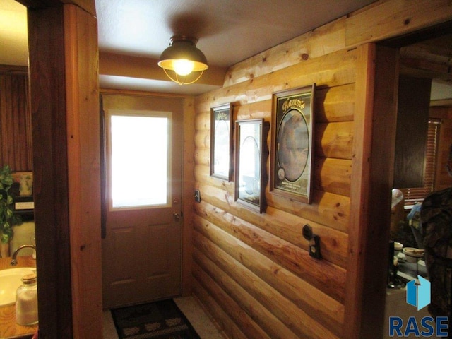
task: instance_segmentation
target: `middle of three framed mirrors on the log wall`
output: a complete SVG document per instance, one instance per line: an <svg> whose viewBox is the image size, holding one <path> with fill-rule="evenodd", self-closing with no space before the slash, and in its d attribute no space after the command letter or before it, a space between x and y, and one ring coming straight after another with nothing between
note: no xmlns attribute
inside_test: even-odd
<svg viewBox="0 0 452 339"><path fill-rule="evenodd" d="M264 126L263 119L235 121L235 201L259 213L265 208Z"/></svg>

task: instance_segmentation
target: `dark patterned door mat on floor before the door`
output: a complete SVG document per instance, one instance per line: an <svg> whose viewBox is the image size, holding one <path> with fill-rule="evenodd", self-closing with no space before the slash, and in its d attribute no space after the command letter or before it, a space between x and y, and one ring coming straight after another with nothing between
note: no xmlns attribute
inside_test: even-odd
<svg viewBox="0 0 452 339"><path fill-rule="evenodd" d="M111 311L119 339L201 339L172 299Z"/></svg>

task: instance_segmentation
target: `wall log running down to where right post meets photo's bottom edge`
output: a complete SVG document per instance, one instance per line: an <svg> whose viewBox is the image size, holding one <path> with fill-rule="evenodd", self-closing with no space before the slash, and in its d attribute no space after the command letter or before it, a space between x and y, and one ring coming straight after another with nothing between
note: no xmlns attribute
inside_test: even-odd
<svg viewBox="0 0 452 339"><path fill-rule="evenodd" d="M201 237L198 239L201 240ZM202 244L198 244L202 249ZM300 338L337 338L285 296L268 287L256 274L228 256L225 251L215 245L210 246L210 250L212 252L206 255L205 252L195 248L194 260L198 263L207 263L208 266L216 266L225 272Z"/></svg>

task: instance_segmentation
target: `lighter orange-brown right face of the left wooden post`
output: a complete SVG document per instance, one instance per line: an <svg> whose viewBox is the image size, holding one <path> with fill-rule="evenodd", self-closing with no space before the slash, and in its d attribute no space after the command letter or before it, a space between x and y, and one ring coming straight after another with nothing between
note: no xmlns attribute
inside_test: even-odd
<svg viewBox="0 0 452 339"><path fill-rule="evenodd" d="M90 1L85 1L88 3ZM64 5L73 337L102 336L97 20ZM81 85L83 84L83 85ZM89 278L88 278L89 277Z"/></svg>

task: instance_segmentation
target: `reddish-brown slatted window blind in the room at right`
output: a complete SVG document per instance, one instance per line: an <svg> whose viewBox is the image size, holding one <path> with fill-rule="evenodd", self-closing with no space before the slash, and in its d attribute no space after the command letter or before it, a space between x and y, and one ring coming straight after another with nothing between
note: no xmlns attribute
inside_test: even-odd
<svg viewBox="0 0 452 339"><path fill-rule="evenodd" d="M422 187L400 189L405 197L405 206L412 206L422 202L427 194L434 191L434 179L436 175L436 157L438 153L439 128L441 119L429 119L427 131L427 147L425 150L424 182Z"/></svg>

